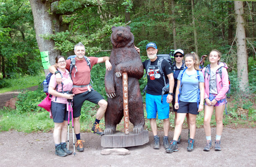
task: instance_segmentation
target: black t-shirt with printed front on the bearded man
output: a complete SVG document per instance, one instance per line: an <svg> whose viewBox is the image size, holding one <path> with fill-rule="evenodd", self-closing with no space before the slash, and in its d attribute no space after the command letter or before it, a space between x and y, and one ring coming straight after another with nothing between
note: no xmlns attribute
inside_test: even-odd
<svg viewBox="0 0 256 167"><path fill-rule="evenodd" d="M163 80L163 74L160 73L158 69L158 60L157 58L155 61L145 60L142 64L145 68L147 66L148 61L150 61L150 66L148 66L147 73L147 94L152 95L161 95L162 94L162 88L165 86L164 80ZM162 69L163 73L165 74L165 81L166 83L169 82L167 75L172 73L171 65L168 63L167 60L162 61Z"/></svg>

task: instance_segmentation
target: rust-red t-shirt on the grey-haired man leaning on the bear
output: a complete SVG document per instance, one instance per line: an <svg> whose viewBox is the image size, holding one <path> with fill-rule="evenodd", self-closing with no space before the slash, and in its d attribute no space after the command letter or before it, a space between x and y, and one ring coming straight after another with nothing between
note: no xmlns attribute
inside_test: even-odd
<svg viewBox="0 0 256 167"><path fill-rule="evenodd" d="M97 57L88 57L91 61L91 68L93 68L93 65L97 63L98 58ZM66 69L69 71L70 70L70 63L71 63L71 59L66 60L67 62L67 66ZM75 70L75 66L77 67L77 72ZM75 58L75 66L72 69L71 72L71 77L73 80L73 85L88 85L91 81L91 75L90 75L90 68L87 65L85 59L83 58L82 61L78 60L77 58ZM75 77L74 77L75 74ZM90 86L91 88L91 86ZM83 93L85 91L88 91L87 87L84 88L73 88L72 92L74 94L80 94Z"/></svg>

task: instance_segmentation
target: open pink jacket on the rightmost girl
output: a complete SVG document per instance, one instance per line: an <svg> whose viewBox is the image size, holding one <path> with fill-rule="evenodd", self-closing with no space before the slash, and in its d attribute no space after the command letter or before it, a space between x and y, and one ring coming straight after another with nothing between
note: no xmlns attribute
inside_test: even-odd
<svg viewBox="0 0 256 167"><path fill-rule="evenodd" d="M217 81L217 96L215 97L216 101L220 101L222 99L226 98L226 92L228 91L228 66L226 63L220 62L218 65L218 69L216 72L219 71L220 67L222 67L222 79L220 78L220 73L217 73L216 75L216 81ZM210 75L209 73L205 73L206 67L202 69L202 73L204 76L204 99L209 98L209 81L210 81Z"/></svg>

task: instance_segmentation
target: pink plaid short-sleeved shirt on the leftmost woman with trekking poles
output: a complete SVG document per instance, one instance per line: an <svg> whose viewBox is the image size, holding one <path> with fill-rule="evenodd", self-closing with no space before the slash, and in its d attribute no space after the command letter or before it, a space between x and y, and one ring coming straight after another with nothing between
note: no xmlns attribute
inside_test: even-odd
<svg viewBox="0 0 256 167"><path fill-rule="evenodd" d="M59 68L58 68L59 70ZM73 86L73 82L70 78L69 72L66 70L65 72L62 72L59 70L59 72L62 75L62 83L63 83L63 91L71 91L72 90L72 86ZM55 88L57 86L57 82L56 82L56 76L55 74L52 74L50 82L49 82L49 86ZM58 92L62 92L62 85L59 84L58 88L57 88ZM63 98L63 97L56 97L56 96L52 96L52 101L57 102L57 103L62 103L62 104L66 104L67 103L67 99Z"/></svg>

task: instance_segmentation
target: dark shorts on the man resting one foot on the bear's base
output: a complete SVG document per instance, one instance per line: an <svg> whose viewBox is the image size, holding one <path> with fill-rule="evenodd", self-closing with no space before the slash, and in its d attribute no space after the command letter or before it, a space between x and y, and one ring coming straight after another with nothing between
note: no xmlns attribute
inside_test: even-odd
<svg viewBox="0 0 256 167"><path fill-rule="evenodd" d="M100 100L104 99L97 91L86 91L80 94L75 94L73 99L73 118L77 118L81 115L81 108L85 100L91 101L94 104L98 104Z"/></svg>

